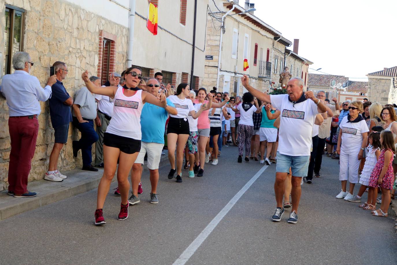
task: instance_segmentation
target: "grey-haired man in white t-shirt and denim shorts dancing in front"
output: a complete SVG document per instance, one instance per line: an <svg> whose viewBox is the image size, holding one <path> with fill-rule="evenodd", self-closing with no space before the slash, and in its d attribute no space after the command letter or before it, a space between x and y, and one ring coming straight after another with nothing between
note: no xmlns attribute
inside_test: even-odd
<svg viewBox="0 0 397 265"><path fill-rule="evenodd" d="M277 208L272 216L272 221L281 221L281 216L284 213L284 182L289 168L291 168L292 210L288 222L296 224L298 222L298 205L301 199L301 178L307 176L314 120L316 114L326 112L327 107L314 97L312 91L303 92L304 83L298 77L289 80L286 95L268 95L254 89L249 85L247 75L241 77L241 82L254 97L271 103L281 111L276 181L274 183ZM294 130L291 131L291 128Z"/></svg>

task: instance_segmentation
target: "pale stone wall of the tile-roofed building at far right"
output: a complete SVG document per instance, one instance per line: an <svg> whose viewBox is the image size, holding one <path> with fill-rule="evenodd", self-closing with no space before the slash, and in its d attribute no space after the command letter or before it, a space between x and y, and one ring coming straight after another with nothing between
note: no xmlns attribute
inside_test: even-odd
<svg viewBox="0 0 397 265"><path fill-rule="evenodd" d="M368 100L372 103L388 104L390 87L391 78L368 77Z"/></svg>

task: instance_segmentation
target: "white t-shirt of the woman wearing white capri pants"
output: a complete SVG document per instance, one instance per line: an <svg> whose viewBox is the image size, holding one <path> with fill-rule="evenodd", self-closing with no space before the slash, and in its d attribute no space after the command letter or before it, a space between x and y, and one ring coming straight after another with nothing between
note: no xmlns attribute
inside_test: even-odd
<svg viewBox="0 0 397 265"><path fill-rule="evenodd" d="M343 153L355 152L360 149L362 133L370 131L361 115L358 115L357 119L352 122L348 120L348 117L350 117L349 114L343 117L341 124L339 124L339 128L342 130L341 152Z"/></svg>

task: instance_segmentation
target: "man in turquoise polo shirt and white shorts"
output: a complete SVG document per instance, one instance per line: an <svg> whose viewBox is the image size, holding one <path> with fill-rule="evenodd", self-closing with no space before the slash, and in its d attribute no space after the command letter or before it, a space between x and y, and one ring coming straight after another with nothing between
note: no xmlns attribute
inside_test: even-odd
<svg viewBox="0 0 397 265"><path fill-rule="evenodd" d="M146 82L147 92L156 96L158 93L164 93L160 90L160 84L156 78L150 78ZM157 183L158 183L158 166L160 164L161 152L164 147L164 131L168 114L176 115L178 111L174 108L174 104L167 99L166 108L145 103L141 113L141 151L135 160L131 169L132 195L129 198L131 204L139 203L138 186L142 176L142 166L145 155L147 154L147 167L150 170L150 184L152 191L150 192L150 203L158 203Z"/></svg>

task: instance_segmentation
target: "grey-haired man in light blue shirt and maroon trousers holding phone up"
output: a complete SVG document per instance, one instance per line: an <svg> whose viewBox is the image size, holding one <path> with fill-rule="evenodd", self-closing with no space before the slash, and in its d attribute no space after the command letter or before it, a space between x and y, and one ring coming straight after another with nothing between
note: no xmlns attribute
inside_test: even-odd
<svg viewBox="0 0 397 265"><path fill-rule="evenodd" d="M8 168L8 195L17 198L35 197L27 190L27 177L36 149L39 133L39 101L51 97L51 85L56 76L50 76L44 89L39 79L30 75L33 62L27 52L16 52L12 58L13 74L5 75L0 92L6 97L10 119L8 127L11 139L11 154Z"/></svg>

